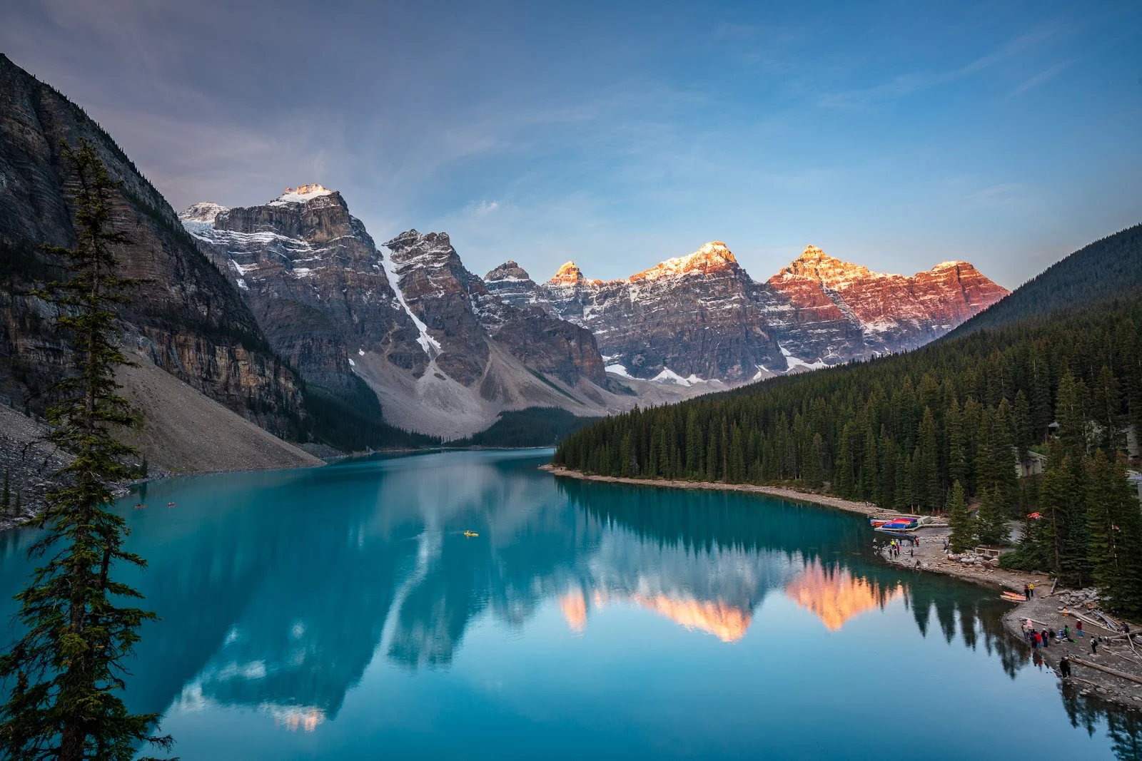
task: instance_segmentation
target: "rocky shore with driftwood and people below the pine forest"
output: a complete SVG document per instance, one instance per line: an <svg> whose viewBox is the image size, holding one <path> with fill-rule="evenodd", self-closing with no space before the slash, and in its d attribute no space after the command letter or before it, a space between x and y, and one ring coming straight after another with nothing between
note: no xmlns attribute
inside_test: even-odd
<svg viewBox="0 0 1142 761"><path fill-rule="evenodd" d="M856 512L870 518L899 515L896 511L884 510L869 503L773 486L588 476L552 464L540 465L540 469L562 478L610 484L766 494ZM885 562L903 568L955 576L1020 594L1023 592L1024 584L1034 584L1036 596L1031 600L1013 604L1012 609L1004 615L1004 626L1007 632L1015 639L1024 641L1024 622L1034 624L1037 631L1046 629L1057 632L1064 626L1069 626L1070 641L1055 639L1048 647L1032 650L1030 657L1037 663L1049 666L1059 674L1061 673L1059 662L1065 655L1071 662L1071 675L1063 678L1063 685L1067 688L1073 689L1083 697L1093 697L1120 707L1142 711L1142 628L1133 622L1116 621L1116 623L1127 623L1131 631L1137 632L1137 634L1126 637L1113 631L1107 622L1100 618L1097 594L1093 590L1056 589L1052 593L1052 582L1046 574L999 568L998 564L992 562L986 556L975 553L962 556L947 553L944 552L944 540L949 533L947 524L938 520L917 529L914 536L919 540L919 543L915 547L906 547L901 557L892 557L887 547L880 548L880 556ZM1080 620L1079 616L1085 630L1083 637L1076 635L1076 623ZM1092 653L1091 640L1095 638L1099 639L1097 651Z"/></svg>

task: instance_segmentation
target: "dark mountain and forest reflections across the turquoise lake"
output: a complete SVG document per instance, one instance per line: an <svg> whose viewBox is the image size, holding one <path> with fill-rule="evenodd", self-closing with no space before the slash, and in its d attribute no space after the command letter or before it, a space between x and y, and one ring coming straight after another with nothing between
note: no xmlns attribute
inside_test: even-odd
<svg viewBox="0 0 1142 761"><path fill-rule="evenodd" d="M920 635L958 635L1012 678L1029 665L1003 633L1007 608L994 594L882 564L852 516L733 493L556 480L539 462L434 454L145 485L128 501L178 508L126 513L130 549L150 560L132 581L162 618L143 632L130 707L168 718L242 709L263 726L320 736L367 673L447 673L474 631L538 637L530 632L544 610L581 642L600 616L635 625L618 613L629 610L733 649L755 631L849 637L870 612L899 609ZM13 612L31 540L0 540L0 614ZM637 625L638 637L656 631ZM604 629L621 638L613 623ZM1089 703L1068 701L1076 726L1101 720ZM1118 745L1139 736L1115 721Z"/></svg>

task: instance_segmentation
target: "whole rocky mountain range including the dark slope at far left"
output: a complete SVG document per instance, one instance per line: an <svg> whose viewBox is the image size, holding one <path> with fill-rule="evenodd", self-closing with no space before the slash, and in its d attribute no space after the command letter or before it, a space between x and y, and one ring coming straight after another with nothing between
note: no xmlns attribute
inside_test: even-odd
<svg viewBox="0 0 1142 761"><path fill-rule="evenodd" d="M813 246L754 281L719 242L617 281L572 262L542 283L514 261L480 277L445 233L378 245L321 185L176 214L111 136L3 56L0 105L0 394L42 412L38 390L67 371L50 311L21 292L51 274L40 243L75 243L61 141L85 138L122 183L122 274L143 281L120 314L124 343L166 373L124 382L152 421L142 440L166 452L152 463L168 468L188 456L178 431L191 416L201 428L203 411L210 430L248 436L252 422L311 450L416 446L432 440L420 435L471 436L506 411L601 416L909 349L1006 294L966 262L903 277ZM199 448L196 468L254 467L218 454L222 444ZM313 461L266 456L259 465Z"/></svg>

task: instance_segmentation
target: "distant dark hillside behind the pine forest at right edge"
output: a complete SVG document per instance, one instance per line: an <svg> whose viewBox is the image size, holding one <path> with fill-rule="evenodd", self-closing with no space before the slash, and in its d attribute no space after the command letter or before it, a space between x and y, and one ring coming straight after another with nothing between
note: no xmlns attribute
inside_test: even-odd
<svg viewBox="0 0 1142 761"><path fill-rule="evenodd" d="M1126 298L1142 284L1142 225L1108 235L1070 254L975 315L944 340L1011 325L1076 305Z"/></svg>

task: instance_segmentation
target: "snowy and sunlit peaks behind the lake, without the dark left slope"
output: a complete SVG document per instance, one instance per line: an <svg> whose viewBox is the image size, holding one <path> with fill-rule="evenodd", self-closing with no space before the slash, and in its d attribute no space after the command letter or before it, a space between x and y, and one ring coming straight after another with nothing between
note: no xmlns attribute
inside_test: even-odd
<svg viewBox="0 0 1142 761"><path fill-rule="evenodd" d="M619 281L568 262L537 284L514 261L481 278L445 233L378 249L316 184L179 218L306 381L362 379L387 422L445 439L505 410L610 414L914 348L1007 293L966 262L903 277L814 246L758 283L721 242Z"/></svg>

